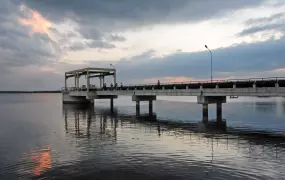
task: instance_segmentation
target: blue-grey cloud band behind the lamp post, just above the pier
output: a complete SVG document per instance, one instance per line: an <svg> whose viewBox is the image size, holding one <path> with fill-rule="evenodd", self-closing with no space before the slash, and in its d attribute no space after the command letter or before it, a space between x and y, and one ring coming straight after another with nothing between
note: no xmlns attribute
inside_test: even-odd
<svg viewBox="0 0 285 180"><path fill-rule="evenodd" d="M251 72L285 68L284 47L285 38L282 38L214 50L213 72L243 72L246 75ZM117 63L119 77L141 79L142 77L186 76L203 79L210 76L208 51L176 53L164 58L151 58L152 55L153 51L148 51L132 60Z"/></svg>

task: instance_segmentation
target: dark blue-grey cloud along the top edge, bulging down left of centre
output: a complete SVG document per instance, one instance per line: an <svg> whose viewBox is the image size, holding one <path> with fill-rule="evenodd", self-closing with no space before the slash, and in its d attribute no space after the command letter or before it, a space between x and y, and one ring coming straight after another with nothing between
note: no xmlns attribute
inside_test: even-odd
<svg viewBox="0 0 285 180"><path fill-rule="evenodd" d="M83 37L92 40L99 40L108 33L149 27L154 24L177 24L211 19L263 2L260 0L14 1L24 3L55 23L72 19L78 24L78 30Z"/></svg>

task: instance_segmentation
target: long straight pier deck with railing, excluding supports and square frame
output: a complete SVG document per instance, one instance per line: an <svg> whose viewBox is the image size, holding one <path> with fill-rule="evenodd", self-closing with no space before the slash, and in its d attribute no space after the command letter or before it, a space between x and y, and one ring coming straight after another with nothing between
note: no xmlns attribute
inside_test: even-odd
<svg viewBox="0 0 285 180"><path fill-rule="evenodd" d="M72 96L280 96L285 97L285 78L258 78L102 88L69 88ZM87 93L88 92L88 93Z"/></svg>

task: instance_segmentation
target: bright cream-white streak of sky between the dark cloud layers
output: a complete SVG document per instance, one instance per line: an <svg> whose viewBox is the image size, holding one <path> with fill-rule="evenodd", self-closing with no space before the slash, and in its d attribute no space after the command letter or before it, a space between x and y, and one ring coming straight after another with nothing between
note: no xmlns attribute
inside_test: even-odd
<svg viewBox="0 0 285 180"><path fill-rule="evenodd" d="M156 56L163 57L177 51L195 52L205 50L207 44L211 49L223 48L240 43L254 43L284 34L276 31L258 32L250 36L238 37L237 34L246 28L248 19L269 17L284 12L284 6L275 6L275 1L267 1L255 8L247 8L226 14L220 19L211 19L189 24L157 24L137 30L121 32L127 39L115 43L116 48L106 50L85 49L67 52L64 59L70 61L84 60L120 60L154 50ZM276 3L276 2L275 2Z"/></svg>

